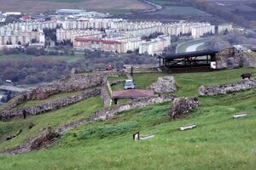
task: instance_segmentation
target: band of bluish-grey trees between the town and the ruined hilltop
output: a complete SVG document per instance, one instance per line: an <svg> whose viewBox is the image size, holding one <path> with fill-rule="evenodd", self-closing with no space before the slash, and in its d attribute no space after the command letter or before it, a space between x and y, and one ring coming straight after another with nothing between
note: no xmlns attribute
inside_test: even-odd
<svg viewBox="0 0 256 170"><path fill-rule="evenodd" d="M0 62L0 84L5 80L11 80L16 84L51 82L70 74L72 68L96 71L113 65L113 68L122 69L123 65L157 64L157 61L152 56L102 51L85 51L83 59L71 63L46 56L34 56L32 59L5 59Z"/></svg>

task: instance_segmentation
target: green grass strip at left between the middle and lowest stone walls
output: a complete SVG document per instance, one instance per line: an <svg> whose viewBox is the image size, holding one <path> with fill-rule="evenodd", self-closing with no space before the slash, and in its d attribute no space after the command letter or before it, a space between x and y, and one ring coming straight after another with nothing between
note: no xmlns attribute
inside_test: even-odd
<svg viewBox="0 0 256 170"><path fill-rule="evenodd" d="M79 103L57 111L51 111L38 116L27 116L25 120L22 119L22 117L16 117L9 122L0 122L0 150L22 144L28 137L37 136L38 133L42 133L44 128L48 126L59 127L68 122L74 122L84 117L89 117L102 107L102 99L97 96L84 99ZM29 130L28 124L30 122L34 123L36 126ZM4 141L8 134L14 134L19 129L22 129L22 133L18 137L10 141Z"/></svg>

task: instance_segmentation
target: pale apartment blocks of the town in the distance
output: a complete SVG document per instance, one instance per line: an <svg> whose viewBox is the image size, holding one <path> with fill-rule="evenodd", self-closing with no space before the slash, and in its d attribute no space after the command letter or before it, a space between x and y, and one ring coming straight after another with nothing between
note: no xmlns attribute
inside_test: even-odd
<svg viewBox="0 0 256 170"><path fill-rule="evenodd" d="M24 21L0 27L0 45L44 44L43 31L47 28L56 30L57 42L68 40L73 42L73 48L154 55L171 45L172 36L196 38L215 33L215 26L207 22L107 19L83 9L59 9L49 17L55 20L30 20L26 15L21 17ZM218 26L218 33L231 29L232 25Z"/></svg>

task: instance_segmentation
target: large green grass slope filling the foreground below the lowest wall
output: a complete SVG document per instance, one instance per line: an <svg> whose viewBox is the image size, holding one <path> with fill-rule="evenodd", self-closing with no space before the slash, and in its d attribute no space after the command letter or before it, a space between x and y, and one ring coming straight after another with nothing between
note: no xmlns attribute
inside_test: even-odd
<svg viewBox="0 0 256 170"><path fill-rule="evenodd" d="M254 94L253 94L254 93ZM1 156L4 169L253 169L256 165L255 121L251 98L230 105L230 95L201 98L203 105L191 116L169 122L168 103L125 111L110 122L90 123L65 133L48 150L20 156ZM205 102L208 99L215 100ZM221 99L221 100L220 100ZM217 106L218 105L218 106ZM241 107L247 105L246 107ZM232 114L250 111L233 119ZM182 124L195 122L193 130L181 132ZM132 133L154 133L154 139L132 141ZM172 160L172 161L171 161Z"/></svg>

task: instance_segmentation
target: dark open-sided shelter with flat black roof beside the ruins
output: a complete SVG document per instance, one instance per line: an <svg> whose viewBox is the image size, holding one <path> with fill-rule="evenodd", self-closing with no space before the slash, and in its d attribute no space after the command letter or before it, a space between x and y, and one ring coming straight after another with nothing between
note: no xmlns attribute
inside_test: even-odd
<svg viewBox="0 0 256 170"><path fill-rule="evenodd" d="M210 71L218 51L203 50L158 56L160 67L170 72ZM215 63L216 64L216 63Z"/></svg>

